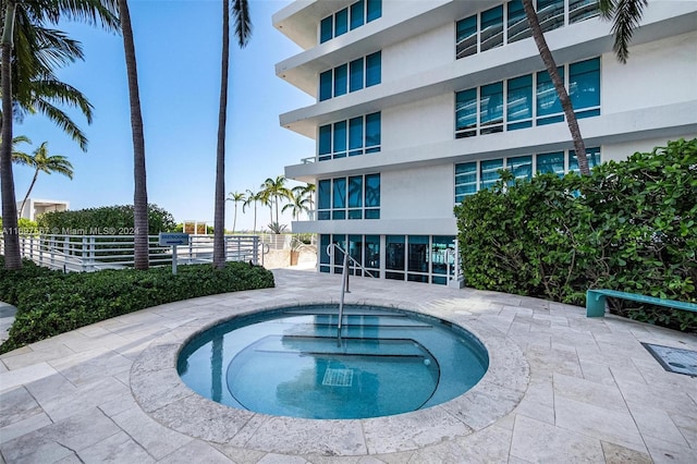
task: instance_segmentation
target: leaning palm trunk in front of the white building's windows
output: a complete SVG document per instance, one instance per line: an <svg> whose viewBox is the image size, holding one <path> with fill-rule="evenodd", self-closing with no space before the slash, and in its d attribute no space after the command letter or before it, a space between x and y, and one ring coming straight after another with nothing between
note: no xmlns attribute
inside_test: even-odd
<svg viewBox="0 0 697 464"><path fill-rule="evenodd" d="M527 22L530 25L530 30L533 32L533 38L535 39L537 49L539 50L542 62L545 63L547 72L552 80L552 84L554 84L554 89L557 90L559 100L562 103L562 109L564 110L564 115L566 117L566 124L568 125L568 132L571 132L571 137L574 141L574 149L576 151L576 159L578 160L578 169L580 170L582 175L589 175L590 169L588 168L586 147L584 145L584 139L580 136L580 129L578 129L576 113L574 113L574 107L571 102L571 98L568 98L568 94L566 93L566 87L564 87L564 82L557 71L557 63L554 62L552 52L547 46L545 34L542 33L540 22L537 17L537 12L533 7L533 0L523 0L523 7L525 8L525 15L527 16Z"/></svg>

